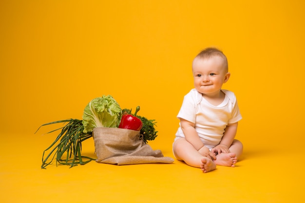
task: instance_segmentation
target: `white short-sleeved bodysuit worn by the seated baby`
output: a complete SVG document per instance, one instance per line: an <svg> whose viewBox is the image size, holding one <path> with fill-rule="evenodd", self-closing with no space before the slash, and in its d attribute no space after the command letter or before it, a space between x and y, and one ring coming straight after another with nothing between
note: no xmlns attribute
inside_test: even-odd
<svg viewBox="0 0 305 203"><path fill-rule="evenodd" d="M224 101L218 105L210 104L200 92L192 89L184 96L182 107L177 115L195 124L195 129L208 148L218 145L224 135L228 124L236 123L242 119L233 92L222 90L226 94ZM185 137L181 126L176 132L176 139Z"/></svg>

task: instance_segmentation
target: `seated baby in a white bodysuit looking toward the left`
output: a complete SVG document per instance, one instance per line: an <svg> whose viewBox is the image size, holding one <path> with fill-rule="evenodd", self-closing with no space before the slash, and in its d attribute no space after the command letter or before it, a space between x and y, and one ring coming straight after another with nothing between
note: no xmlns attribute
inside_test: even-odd
<svg viewBox="0 0 305 203"><path fill-rule="evenodd" d="M222 90L229 80L227 57L216 48L201 51L192 62L194 87L177 115L180 127L173 154L206 173L219 166L234 167L243 151L234 139L242 119L233 92Z"/></svg>

